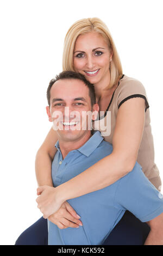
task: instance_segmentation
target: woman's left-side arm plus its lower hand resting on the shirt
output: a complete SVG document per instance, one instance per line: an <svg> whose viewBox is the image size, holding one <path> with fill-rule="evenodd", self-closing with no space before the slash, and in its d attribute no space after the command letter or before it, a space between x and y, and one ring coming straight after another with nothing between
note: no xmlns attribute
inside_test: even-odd
<svg viewBox="0 0 163 256"><path fill-rule="evenodd" d="M37 151L35 172L37 184L39 186L48 185L53 187L51 165L57 151L57 149L54 147L57 139L57 132L51 128L45 141ZM39 195L39 193L37 193L37 195ZM76 211L71 207L71 205L64 202L60 209L49 217L49 220L58 225L58 227L61 229L68 227L77 228L79 225L82 225L79 218L80 216L77 215Z"/></svg>

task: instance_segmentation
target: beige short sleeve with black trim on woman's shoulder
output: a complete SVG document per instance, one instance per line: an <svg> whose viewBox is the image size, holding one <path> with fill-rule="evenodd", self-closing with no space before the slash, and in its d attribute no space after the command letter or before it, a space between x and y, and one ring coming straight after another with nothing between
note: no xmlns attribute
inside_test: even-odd
<svg viewBox="0 0 163 256"><path fill-rule="evenodd" d="M145 99L145 111L149 108L146 90L143 84L134 78L124 78L120 83L120 90L117 97L118 108L120 108L123 102L133 97L142 97Z"/></svg>

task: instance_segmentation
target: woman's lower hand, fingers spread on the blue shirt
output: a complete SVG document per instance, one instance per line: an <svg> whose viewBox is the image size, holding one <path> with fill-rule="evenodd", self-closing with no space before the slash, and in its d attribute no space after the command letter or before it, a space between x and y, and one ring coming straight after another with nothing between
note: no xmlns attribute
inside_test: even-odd
<svg viewBox="0 0 163 256"><path fill-rule="evenodd" d="M65 228L79 228L79 225L83 225L82 221L78 220L79 215L76 214L76 211L71 207L68 202L64 202L61 205L61 208L48 217L48 220L53 222L60 229Z"/></svg>

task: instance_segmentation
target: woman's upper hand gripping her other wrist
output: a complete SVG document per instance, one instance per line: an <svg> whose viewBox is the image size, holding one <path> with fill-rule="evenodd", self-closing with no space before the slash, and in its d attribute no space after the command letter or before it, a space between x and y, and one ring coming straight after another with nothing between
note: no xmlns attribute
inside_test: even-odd
<svg viewBox="0 0 163 256"><path fill-rule="evenodd" d="M39 196L40 195L40 196ZM57 197L57 189L51 186L41 186L37 188L37 208L43 214L43 218L48 218L50 215L57 212L62 203Z"/></svg>

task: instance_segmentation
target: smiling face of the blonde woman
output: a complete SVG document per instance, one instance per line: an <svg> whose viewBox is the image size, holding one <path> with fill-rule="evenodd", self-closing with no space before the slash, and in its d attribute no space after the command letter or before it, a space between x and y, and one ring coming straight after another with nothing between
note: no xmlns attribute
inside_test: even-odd
<svg viewBox="0 0 163 256"><path fill-rule="evenodd" d="M74 70L93 83L110 79L111 52L103 36L97 32L79 35L74 46Z"/></svg>

